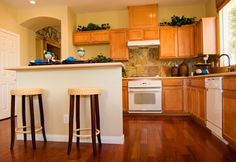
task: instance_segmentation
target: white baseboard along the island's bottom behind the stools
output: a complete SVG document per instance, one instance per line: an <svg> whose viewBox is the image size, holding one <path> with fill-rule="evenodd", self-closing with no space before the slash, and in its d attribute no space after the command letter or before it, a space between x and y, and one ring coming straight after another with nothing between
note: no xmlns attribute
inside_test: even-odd
<svg viewBox="0 0 236 162"><path fill-rule="evenodd" d="M23 134L17 134L17 140L23 140ZM31 135L27 134L27 139L31 140ZM37 141L43 141L43 136L41 134L36 134ZM101 136L102 143L104 144L124 144L124 135L122 136ZM54 142L68 142L67 135L47 135L47 141L54 141ZM76 137L73 137L73 142L76 141ZM81 138L81 143L91 143L91 138Z"/></svg>

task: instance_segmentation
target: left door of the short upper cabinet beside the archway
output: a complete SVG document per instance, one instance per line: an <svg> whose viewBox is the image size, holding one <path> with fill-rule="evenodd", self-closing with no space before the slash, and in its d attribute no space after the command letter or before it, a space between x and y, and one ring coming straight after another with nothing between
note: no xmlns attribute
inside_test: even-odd
<svg viewBox="0 0 236 162"><path fill-rule="evenodd" d="M73 33L73 44L89 44L91 42L91 32L74 32Z"/></svg>

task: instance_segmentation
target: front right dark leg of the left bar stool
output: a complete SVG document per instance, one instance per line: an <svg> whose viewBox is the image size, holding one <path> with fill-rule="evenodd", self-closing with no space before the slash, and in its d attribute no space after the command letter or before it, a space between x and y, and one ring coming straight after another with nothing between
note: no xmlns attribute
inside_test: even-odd
<svg viewBox="0 0 236 162"><path fill-rule="evenodd" d="M29 107L30 107L30 124L31 124L31 138L32 138L32 145L33 149L36 149L35 143L35 123L34 123L34 103L33 103L33 96L29 96Z"/></svg>

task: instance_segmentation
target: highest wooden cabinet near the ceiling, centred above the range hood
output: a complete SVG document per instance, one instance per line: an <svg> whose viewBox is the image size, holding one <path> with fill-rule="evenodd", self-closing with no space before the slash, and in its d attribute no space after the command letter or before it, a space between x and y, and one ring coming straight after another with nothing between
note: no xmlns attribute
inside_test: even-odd
<svg viewBox="0 0 236 162"><path fill-rule="evenodd" d="M157 4L129 6L129 28L156 27Z"/></svg>

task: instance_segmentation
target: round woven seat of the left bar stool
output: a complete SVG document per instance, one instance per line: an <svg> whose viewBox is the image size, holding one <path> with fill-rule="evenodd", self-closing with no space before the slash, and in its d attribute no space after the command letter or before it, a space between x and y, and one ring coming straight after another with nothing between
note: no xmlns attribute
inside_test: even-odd
<svg viewBox="0 0 236 162"><path fill-rule="evenodd" d="M39 95L43 93L42 88L17 88L10 91L11 95Z"/></svg>

